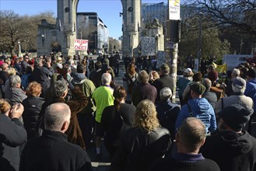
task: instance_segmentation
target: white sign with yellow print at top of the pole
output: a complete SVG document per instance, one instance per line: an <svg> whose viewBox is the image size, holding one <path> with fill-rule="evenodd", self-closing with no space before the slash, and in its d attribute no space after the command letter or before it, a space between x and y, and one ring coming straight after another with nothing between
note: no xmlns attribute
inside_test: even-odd
<svg viewBox="0 0 256 171"><path fill-rule="evenodd" d="M178 20L180 16L181 0L169 0L169 19Z"/></svg>

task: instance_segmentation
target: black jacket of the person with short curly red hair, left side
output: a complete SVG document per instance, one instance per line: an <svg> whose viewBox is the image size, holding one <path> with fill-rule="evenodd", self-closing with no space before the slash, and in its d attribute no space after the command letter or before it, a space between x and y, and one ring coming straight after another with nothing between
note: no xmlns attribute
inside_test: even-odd
<svg viewBox="0 0 256 171"><path fill-rule="evenodd" d="M23 100L23 122L27 132L27 139L33 138L36 134L37 120L43 104L44 99L37 96L31 96Z"/></svg>

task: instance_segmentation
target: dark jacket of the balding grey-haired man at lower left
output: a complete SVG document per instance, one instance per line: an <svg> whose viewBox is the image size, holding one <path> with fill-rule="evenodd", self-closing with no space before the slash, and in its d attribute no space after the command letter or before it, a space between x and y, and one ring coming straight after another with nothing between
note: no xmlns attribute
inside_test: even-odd
<svg viewBox="0 0 256 171"><path fill-rule="evenodd" d="M67 141L58 131L44 131L28 141L23 150L19 171L87 171L92 170L89 156L78 145Z"/></svg>

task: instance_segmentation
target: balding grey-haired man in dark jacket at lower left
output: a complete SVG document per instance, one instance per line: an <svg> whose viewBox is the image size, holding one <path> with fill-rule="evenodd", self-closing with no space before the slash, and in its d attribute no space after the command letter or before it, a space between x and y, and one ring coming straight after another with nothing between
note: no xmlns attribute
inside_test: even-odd
<svg viewBox="0 0 256 171"><path fill-rule="evenodd" d="M47 106L44 132L28 141L22 153L19 171L62 170L91 171L86 151L67 141L65 131L71 123L71 110L65 103Z"/></svg>

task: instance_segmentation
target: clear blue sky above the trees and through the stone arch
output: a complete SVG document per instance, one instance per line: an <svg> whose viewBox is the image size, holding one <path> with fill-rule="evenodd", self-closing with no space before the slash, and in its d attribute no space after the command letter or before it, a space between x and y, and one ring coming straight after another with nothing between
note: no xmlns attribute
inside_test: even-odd
<svg viewBox="0 0 256 171"><path fill-rule="evenodd" d="M142 3L159 3L167 0L142 0ZM12 9L20 16L40 12L54 12L57 16L57 0L0 0L0 9ZM121 0L79 0L77 12L97 12L108 27L110 37L121 37Z"/></svg>

